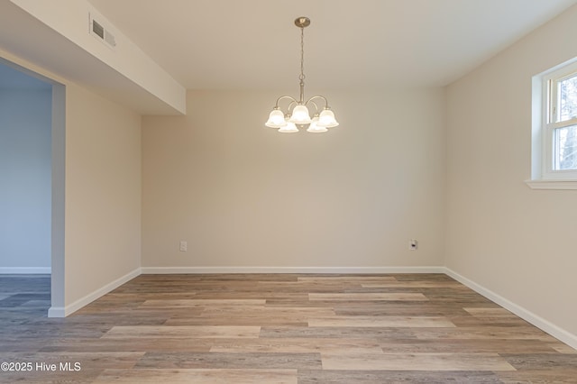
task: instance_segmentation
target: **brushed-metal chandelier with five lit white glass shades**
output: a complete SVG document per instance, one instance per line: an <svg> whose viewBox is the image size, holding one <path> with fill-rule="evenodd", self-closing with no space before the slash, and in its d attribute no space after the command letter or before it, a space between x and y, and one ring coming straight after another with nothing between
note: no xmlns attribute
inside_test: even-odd
<svg viewBox="0 0 577 384"><path fill-rule="evenodd" d="M300 97L298 100L292 96L280 96L277 103L269 114L269 120L265 123L270 128L277 128L281 133L298 132L298 127L307 127L307 132L324 133L327 128L337 126L339 123L334 118L334 113L328 106L325 96L312 96L305 101L305 28L310 25L308 17L298 17L295 25L300 28ZM288 101L285 111L279 107L281 101ZM323 107L319 110L319 104ZM308 108L314 108L314 113L308 112Z"/></svg>

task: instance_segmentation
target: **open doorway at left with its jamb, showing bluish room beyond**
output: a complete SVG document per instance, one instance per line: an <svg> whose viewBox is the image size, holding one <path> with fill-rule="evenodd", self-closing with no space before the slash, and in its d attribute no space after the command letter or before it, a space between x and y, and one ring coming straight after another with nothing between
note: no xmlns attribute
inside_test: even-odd
<svg viewBox="0 0 577 384"><path fill-rule="evenodd" d="M50 277L52 316L64 305L64 105L62 84L0 58L0 274Z"/></svg>

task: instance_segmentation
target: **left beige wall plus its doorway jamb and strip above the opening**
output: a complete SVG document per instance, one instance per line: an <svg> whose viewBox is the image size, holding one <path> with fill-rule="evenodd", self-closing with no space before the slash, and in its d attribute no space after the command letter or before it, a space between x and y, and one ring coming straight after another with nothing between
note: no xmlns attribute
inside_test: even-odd
<svg viewBox="0 0 577 384"><path fill-rule="evenodd" d="M66 315L140 272L141 116L8 51L0 58L55 84L50 311Z"/></svg>

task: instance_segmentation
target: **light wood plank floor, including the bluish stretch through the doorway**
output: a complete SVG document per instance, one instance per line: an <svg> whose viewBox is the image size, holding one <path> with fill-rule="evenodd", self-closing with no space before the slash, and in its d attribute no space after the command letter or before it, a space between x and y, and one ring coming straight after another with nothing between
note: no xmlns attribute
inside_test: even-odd
<svg viewBox="0 0 577 384"><path fill-rule="evenodd" d="M65 319L48 292L0 276L0 361L32 363L1 382L577 382L575 350L441 274L142 275Z"/></svg>

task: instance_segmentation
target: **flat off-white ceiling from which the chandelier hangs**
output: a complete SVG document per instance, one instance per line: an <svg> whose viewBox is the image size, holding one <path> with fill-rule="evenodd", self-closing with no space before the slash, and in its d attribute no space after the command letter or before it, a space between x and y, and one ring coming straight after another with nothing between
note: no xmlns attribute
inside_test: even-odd
<svg viewBox="0 0 577 384"><path fill-rule="evenodd" d="M444 86L577 0L89 0L184 87Z"/></svg>

